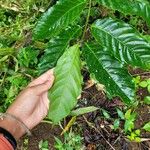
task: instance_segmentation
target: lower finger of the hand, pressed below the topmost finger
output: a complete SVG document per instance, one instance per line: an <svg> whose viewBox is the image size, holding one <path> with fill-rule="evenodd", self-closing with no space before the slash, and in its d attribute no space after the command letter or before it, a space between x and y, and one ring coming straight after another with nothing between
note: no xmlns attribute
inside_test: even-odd
<svg viewBox="0 0 150 150"><path fill-rule="evenodd" d="M36 93L36 95L41 95L42 93L48 91L54 82L54 76L51 76L50 80L47 80L45 83L32 86L32 92Z"/></svg>

